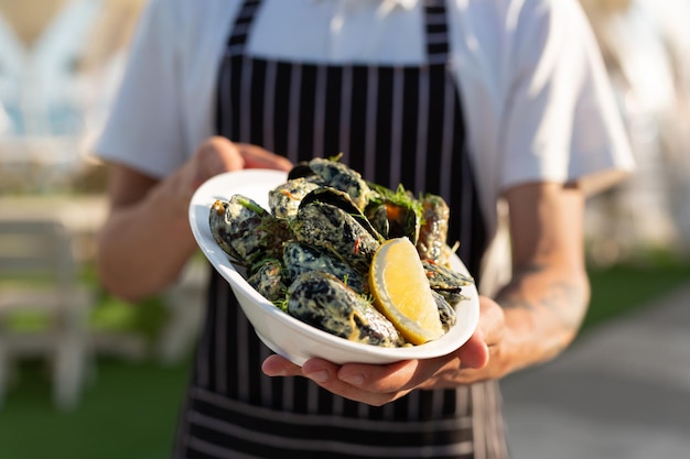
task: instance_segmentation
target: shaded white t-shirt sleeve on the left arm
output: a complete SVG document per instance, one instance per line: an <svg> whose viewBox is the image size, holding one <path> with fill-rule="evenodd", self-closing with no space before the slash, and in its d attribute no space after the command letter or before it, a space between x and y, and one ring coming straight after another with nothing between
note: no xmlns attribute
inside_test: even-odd
<svg viewBox="0 0 690 459"><path fill-rule="evenodd" d="M176 29L170 2L151 0L147 4L95 147L103 160L153 177L170 174L188 154L175 69Z"/></svg>

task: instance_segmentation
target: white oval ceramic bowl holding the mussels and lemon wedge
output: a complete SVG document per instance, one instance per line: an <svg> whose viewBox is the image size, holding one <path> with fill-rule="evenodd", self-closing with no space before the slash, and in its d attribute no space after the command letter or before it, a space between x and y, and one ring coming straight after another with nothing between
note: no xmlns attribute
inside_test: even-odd
<svg viewBox="0 0 690 459"><path fill-rule="evenodd" d="M313 357L338 364L384 364L445 356L470 338L479 318L478 296L474 285L463 289L468 299L457 304L457 321L451 330L434 341L405 348L382 348L336 337L283 313L254 289L213 239L208 226L211 206L216 199L227 200L230 196L240 194L252 198L268 210L268 192L285 179L285 173L269 170L222 174L204 183L190 205L190 223L196 242L213 266L230 284L242 310L266 346L299 365ZM467 273L457 258L453 260L453 267Z"/></svg>

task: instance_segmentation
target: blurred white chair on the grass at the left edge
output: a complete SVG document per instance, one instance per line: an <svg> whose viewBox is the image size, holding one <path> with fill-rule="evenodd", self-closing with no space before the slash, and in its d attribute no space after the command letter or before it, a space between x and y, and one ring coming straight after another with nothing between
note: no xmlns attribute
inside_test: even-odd
<svg viewBox="0 0 690 459"><path fill-rule="evenodd" d="M41 212L41 209L36 209ZM54 403L73 408L85 383L91 289L78 285L72 237L56 220L0 218L0 404L20 358L50 363ZM10 325L12 314L36 312L48 319L40 331Z"/></svg>

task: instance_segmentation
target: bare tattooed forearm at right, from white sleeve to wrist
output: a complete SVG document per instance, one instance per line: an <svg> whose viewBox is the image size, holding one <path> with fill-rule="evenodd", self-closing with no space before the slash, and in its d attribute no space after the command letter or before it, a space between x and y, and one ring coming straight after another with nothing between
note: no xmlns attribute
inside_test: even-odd
<svg viewBox="0 0 690 459"><path fill-rule="evenodd" d="M493 318L479 324L488 364L456 373L455 382L503 378L556 357L574 339L589 304L579 188L528 184L506 196L513 277L494 298L483 298L483 316Z"/></svg>

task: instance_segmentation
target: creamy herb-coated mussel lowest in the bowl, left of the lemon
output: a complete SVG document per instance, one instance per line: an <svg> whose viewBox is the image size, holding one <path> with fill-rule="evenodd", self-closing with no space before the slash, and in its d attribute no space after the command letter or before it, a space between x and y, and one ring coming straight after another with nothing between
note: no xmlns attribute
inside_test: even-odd
<svg viewBox="0 0 690 459"><path fill-rule="evenodd" d="M351 341L388 348L405 345L390 320L328 273L298 276L288 289L288 313Z"/></svg>

